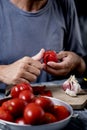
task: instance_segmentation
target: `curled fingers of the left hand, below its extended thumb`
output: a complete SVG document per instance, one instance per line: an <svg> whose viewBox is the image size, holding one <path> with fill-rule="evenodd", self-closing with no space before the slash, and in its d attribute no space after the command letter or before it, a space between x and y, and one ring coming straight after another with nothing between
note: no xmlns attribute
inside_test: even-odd
<svg viewBox="0 0 87 130"><path fill-rule="evenodd" d="M28 80L29 82L35 81L40 75L43 65L37 60L29 60L29 63L24 62L21 68L19 77Z"/></svg>

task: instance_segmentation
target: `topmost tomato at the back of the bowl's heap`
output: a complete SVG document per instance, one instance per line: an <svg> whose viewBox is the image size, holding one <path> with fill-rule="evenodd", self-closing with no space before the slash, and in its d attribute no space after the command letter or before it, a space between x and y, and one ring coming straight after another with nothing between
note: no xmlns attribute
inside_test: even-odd
<svg viewBox="0 0 87 130"><path fill-rule="evenodd" d="M30 90L33 92L33 89L30 84L27 83L20 83L12 87L11 89L11 96L12 98L16 98L19 96L19 93L23 90Z"/></svg>

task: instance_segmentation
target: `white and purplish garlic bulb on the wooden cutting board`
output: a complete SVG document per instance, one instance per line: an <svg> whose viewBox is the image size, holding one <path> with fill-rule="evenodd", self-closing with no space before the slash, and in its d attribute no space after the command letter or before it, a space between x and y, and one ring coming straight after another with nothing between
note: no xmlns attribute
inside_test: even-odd
<svg viewBox="0 0 87 130"><path fill-rule="evenodd" d="M66 94L73 97L77 96L77 94L82 91L80 84L75 78L75 75L71 75L70 78L63 83L62 88Z"/></svg>

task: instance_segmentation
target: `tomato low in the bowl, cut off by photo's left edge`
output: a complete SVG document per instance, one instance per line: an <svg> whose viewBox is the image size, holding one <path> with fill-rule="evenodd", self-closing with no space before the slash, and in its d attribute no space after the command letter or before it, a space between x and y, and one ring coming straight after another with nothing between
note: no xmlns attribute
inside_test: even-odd
<svg viewBox="0 0 87 130"><path fill-rule="evenodd" d="M13 122L12 115L8 111L3 110L2 107L0 107L0 119Z"/></svg>

